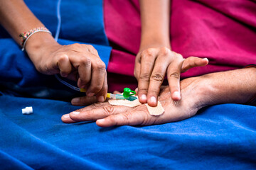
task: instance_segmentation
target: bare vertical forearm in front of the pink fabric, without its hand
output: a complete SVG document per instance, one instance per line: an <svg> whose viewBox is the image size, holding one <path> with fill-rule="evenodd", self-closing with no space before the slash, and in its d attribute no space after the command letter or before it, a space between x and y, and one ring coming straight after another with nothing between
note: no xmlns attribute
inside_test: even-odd
<svg viewBox="0 0 256 170"><path fill-rule="evenodd" d="M142 20L141 50L155 45L170 47L170 1L140 0L139 4Z"/></svg>

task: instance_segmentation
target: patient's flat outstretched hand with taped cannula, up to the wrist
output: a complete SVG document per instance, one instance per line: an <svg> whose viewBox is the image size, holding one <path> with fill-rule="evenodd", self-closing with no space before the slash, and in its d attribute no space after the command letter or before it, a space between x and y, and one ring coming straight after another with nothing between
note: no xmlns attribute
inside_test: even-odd
<svg viewBox="0 0 256 170"><path fill-rule="evenodd" d="M196 90L197 89L197 90ZM64 123L97 120L97 125L109 127L113 125L152 125L183 120L196 114L201 108L201 87L198 79L181 81L181 101L173 101L168 86L162 86L159 101L165 112L162 115L150 115L145 105L129 108L111 106L108 102L95 103L73 113L63 115Z"/></svg>

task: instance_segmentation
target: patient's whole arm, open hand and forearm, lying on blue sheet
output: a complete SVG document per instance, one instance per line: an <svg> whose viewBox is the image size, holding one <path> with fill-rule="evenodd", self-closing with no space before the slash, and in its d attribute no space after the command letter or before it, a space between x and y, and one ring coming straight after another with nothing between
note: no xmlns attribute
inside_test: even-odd
<svg viewBox="0 0 256 170"><path fill-rule="evenodd" d="M146 106L136 108L96 103L63 115L64 123L96 120L97 125L152 125L183 120L195 115L200 108L219 103L246 103L256 94L256 68L206 74L181 81L181 101L171 99L169 87L161 89L159 101L164 114L149 115ZM78 114L78 112L80 112Z"/></svg>

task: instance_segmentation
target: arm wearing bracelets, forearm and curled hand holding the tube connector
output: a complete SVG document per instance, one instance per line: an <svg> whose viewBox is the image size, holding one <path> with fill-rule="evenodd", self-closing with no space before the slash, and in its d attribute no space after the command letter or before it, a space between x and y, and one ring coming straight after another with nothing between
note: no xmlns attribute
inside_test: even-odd
<svg viewBox="0 0 256 170"><path fill-rule="evenodd" d="M43 27L23 0L0 0L0 23L20 45L20 33ZM104 101L107 95L105 64L92 45L60 45L49 33L38 32L26 42L26 52L43 74L58 74L78 81L87 96Z"/></svg>

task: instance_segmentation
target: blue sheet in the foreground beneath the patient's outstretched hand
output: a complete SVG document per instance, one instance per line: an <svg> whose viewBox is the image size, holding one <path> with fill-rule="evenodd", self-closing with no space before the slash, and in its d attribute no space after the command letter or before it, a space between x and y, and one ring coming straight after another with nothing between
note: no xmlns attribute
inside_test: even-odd
<svg viewBox="0 0 256 170"><path fill-rule="evenodd" d="M255 169L256 107L223 104L146 127L64 124L80 107L0 96L1 169ZM32 115L21 108L33 106Z"/></svg>

